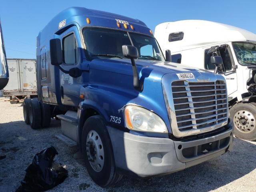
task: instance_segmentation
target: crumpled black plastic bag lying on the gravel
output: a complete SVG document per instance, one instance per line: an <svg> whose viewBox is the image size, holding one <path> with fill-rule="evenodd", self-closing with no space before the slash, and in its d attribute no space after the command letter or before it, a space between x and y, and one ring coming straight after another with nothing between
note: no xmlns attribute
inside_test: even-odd
<svg viewBox="0 0 256 192"><path fill-rule="evenodd" d="M53 146L36 154L16 192L41 192L62 183L68 177L68 171L54 162L57 154Z"/></svg>

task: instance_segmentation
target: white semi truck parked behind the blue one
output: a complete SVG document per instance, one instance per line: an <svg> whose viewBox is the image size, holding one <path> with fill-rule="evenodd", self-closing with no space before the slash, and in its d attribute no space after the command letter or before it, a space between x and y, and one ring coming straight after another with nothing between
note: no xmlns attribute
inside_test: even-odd
<svg viewBox="0 0 256 192"><path fill-rule="evenodd" d="M154 33L172 62L202 68L225 77L230 124L234 134L256 140L256 34L205 20L165 22ZM221 56L217 64L211 56Z"/></svg>

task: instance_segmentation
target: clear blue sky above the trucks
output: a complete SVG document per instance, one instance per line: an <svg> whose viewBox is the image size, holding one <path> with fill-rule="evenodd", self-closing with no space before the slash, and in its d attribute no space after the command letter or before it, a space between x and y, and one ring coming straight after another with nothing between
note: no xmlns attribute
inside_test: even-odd
<svg viewBox="0 0 256 192"><path fill-rule="evenodd" d="M36 58L38 32L56 14L72 6L136 18L152 31L162 22L200 19L256 33L256 0L1 0L7 58Z"/></svg>

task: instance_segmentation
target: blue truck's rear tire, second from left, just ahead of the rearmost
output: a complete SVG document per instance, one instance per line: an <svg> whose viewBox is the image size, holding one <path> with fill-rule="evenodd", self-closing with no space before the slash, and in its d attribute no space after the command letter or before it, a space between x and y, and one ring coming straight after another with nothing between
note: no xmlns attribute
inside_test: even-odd
<svg viewBox="0 0 256 192"><path fill-rule="evenodd" d="M41 109L38 100L31 99L29 107L29 123L32 129L41 128Z"/></svg>

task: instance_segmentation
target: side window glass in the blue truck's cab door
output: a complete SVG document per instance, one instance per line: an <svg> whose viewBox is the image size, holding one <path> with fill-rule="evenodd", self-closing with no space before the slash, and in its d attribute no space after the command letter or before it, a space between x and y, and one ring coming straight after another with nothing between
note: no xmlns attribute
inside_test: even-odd
<svg viewBox="0 0 256 192"><path fill-rule="evenodd" d="M62 40L62 50L64 64L72 65L78 62L78 46L74 33L66 36Z"/></svg>

